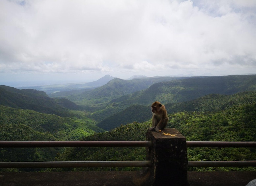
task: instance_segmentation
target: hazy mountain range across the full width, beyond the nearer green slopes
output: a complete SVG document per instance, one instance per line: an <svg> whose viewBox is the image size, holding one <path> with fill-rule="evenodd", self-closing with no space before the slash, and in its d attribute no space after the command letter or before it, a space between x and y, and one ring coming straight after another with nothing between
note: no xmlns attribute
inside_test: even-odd
<svg viewBox="0 0 256 186"><path fill-rule="evenodd" d="M105 82L107 83L104 84ZM97 126L109 130L120 124L149 119L150 117L146 117L150 116L149 106L155 100L173 107L175 103L193 100L208 94L231 95L252 91L255 90L255 82L256 75L138 77L132 80L104 76L91 83L91 86L100 83L104 84L103 86L92 90L74 90L68 92L68 94L72 94L67 96L60 96L58 93L50 94L51 96L56 95L56 97L52 98L42 91L32 89L18 90L0 86L0 91L10 91L10 93L0 95L0 104L14 108L32 108L37 112L56 114L58 116L71 115L69 109L81 111L85 113L83 114L84 117L95 120ZM4 87L5 89L3 89ZM35 94L28 97L28 94L32 95L33 91ZM15 96L13 95L14 93ZM11 95L13 96L10 97ZM134 107L138 107L138 110L143 113L143 117L136 117L138 112L133 109ZM186 105L180 107L185 108ZM128 111L133 111L133 113ZM116 116L123 116L123 119L116 120ZM113 123L112 127L104 127L110 122Z"/></svg>

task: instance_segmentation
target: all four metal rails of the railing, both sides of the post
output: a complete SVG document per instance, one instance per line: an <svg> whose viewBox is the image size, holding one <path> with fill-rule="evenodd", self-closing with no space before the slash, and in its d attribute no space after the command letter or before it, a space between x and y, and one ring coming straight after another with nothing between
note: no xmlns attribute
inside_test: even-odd
<svg viewBox="0 0 256 186"><path fill-rule="evenodd" d="M0 147L151 147L151 141L0 141ZM187 147L256 147L256 142L187 141ZM0 162L0 168L151 167L151 161ZM250 167L256 161L188 161L188 167Z"/></svg>

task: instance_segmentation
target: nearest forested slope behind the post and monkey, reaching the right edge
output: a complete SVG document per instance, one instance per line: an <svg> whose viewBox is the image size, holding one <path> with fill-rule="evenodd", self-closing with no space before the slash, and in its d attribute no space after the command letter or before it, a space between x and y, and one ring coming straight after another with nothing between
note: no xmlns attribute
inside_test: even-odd
<svg viewBox="0 0 256 186"><path fill-rule="evenodd" d="M240 99L243 99L241 96ZM255 141L256 103L234 104L220 111L178 112L169 114L167 127L177 128L188 141ZM83 140L145 140L151 122L131 123L106 133L85 137ZM164 132L164 131L162 131ZM188 160L255 160L255 148L189 148ZM68 148L57 160L145 160L146 151L141 147ZM125 168L128 170L130 168ZM133 168L131 168L134 170ZM60 169L54 169L60 170ZM65 169L95 170L95 169ZM97 169L101 170L101 168ZM105 168L104 170L121 170ZM193 170L255 170L255 168L193 168Z"/></svg>

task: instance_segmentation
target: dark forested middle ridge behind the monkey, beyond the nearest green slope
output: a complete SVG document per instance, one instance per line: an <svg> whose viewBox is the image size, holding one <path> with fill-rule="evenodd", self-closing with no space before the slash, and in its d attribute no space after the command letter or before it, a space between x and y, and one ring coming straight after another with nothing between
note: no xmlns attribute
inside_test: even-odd
<svg viewBox="0 0 256 186"><path fill-rule="evenodd" d="M212 112L230 108L234 105L250 104L253 103L255 99L256 91L242 92L233 95L209 94L186 102L169 103L165 105L165 108L169 114L181 111ZM114 106L115 105L112 104L111 108ZM95 114L99 115L99 118L100 114L102 114L101 116L105 116L102 111ZM97 124L97 126L104 130L110 130L120 126L121 124L127 124L133 121L145 122L151 117L152 114L150 106L132 105L119 113L103 119Z"/></svg>

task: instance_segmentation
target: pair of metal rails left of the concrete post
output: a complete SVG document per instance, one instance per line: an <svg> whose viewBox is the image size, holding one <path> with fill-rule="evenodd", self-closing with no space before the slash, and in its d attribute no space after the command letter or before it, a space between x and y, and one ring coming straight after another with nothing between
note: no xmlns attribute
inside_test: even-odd
<svg viewBox="0 0 256 186"><path fill-rule="evenodd" d="M0 141L0 147L150 147L151 141ZM0 168L151 167L151 161L0 162Z"/></svg>

